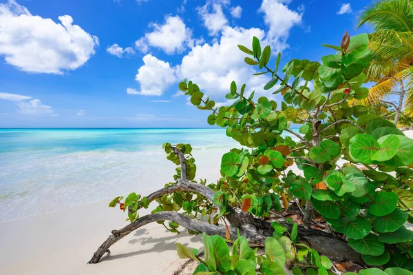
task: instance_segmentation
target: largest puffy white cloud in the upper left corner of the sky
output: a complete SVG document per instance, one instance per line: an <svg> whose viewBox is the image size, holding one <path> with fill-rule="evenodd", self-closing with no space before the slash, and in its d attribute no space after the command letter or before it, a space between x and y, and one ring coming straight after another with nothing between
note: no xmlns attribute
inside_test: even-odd
<svg viewBox="0 0 413 275"><path fill-rule="evenodd" d="M59 21L32 15L14 0L0 4L0 55L25 72L76 70L95 53L98 37L73 25L69 15Z"/></svg>

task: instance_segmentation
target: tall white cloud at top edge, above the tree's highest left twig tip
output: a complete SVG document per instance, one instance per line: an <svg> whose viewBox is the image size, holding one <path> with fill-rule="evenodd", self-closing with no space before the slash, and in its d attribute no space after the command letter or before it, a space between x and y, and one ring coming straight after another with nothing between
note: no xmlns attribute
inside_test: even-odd
<svg viewBox="0 0 413 275"><path fill-rule="evenodd" d="M278 52L288 47L286 40L293 26L301 24L304 6L299 6L299 12L290 10L286 4L289 0L263 0L260 12L264 13L264 22L268 26L267 40ZM285 4L284 4L285 3Z"/></svg>

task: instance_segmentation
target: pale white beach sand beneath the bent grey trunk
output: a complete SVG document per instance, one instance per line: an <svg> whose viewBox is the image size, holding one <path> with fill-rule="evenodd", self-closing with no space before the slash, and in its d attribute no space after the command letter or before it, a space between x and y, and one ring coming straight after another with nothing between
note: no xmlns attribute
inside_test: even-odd
<svg viewBox="0 0 413 275"><path fill-rule="evenodd" d="M405 134L413 138L413 131ZM218 179L224 152L197 152L198 176L210 182ZM153 187L162 187L165 182L153 176ZM136 190L131 186L130 191ZM151 223L113 245L112 253L100 263L86 265L112 230L127 225L125 213L108 208L109 201L0 223L0 274L172 274L184 262L178 258L176 243L202 247L202 238L189 235L182 227L176 235ZM140 216L153 205L140 211Z"/></svg>

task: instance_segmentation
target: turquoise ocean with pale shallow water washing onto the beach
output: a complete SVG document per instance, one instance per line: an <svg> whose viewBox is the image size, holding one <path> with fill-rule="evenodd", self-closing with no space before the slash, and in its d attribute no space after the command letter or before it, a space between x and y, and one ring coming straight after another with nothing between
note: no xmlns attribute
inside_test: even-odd
<svg viewBox="0 0 413 275"><path fill-rule="evenodd" d="M0 129L0 222L149 194L173 181L165 142L191 143L202 177L240 147L223 129Z"/></svg>

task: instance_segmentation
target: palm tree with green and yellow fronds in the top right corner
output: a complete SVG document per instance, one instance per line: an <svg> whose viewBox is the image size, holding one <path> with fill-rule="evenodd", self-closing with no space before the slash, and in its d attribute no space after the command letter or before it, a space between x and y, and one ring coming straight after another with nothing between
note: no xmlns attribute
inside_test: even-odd
<svg viewBox="0 0 413 275"><path fill-rule="evenodd" d="M375 29L369 36L372 62L366 79L377 84L363 103L392 105L397 125L402 111L413 114L413 1L373 3L359 17L359 27L365 23ZM391 101L394 96L399 97L396 103Z"/></svg>

